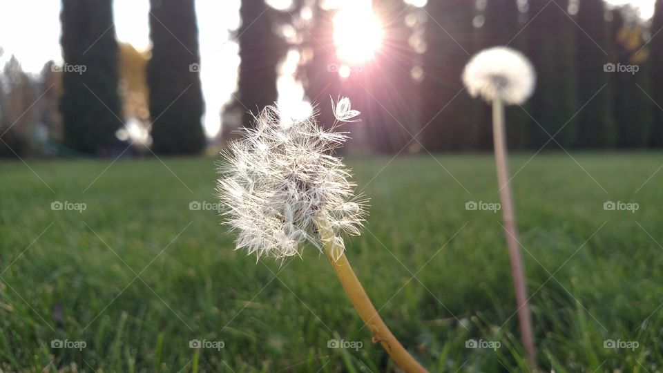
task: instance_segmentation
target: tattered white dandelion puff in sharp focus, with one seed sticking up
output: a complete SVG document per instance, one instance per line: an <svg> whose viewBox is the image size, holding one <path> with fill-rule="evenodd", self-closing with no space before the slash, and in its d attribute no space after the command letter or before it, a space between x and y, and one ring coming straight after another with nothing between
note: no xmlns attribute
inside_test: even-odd
<svg viewBox="0 0 663 373"><path fill-rule="evenodd" d="M340 99L338 120L359 114L349 105ZM300 255L300 244L308 241L322 251L316 224L324 222L338 258L345 249L340 235L361 233L363 202L354 196L349 170L333 155L348 138L334 131L339 125L325 131L315 115L284 125L278 107L267 106L255 128L240 130L224 152L217 187L225 223L238 232L236 249L284 259Z"/></svg>

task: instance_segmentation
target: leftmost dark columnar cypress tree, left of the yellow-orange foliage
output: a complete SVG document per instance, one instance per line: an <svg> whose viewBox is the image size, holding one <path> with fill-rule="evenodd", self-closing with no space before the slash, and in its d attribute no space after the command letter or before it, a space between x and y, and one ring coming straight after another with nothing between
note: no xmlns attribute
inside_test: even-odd
<svg viewBox="0 0 663 373"><path fill-rule="evenodd" d="M60 20L64 140L77 151L108 155L122 126L113 1L62 0Z"/></svg>

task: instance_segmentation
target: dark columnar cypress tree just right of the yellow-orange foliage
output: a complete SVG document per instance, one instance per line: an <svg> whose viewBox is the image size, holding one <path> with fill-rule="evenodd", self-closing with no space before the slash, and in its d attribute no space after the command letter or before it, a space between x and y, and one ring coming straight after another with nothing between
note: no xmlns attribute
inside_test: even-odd
<svg viewBox="0 0 663 373"><path fill-rule="evenodd" d="M200 153L200 53L194 0L151 0L152 58L147 64L155 153ZM215 68L210 66L209 68Z"/></svg>

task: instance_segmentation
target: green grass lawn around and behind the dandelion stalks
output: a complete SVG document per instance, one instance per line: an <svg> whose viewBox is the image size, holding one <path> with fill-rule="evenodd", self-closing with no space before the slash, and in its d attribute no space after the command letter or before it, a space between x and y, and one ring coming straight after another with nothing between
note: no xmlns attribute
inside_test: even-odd
<svg viewBox="0 0 663 373"><path fill-rule="evenodd" d="M574 157L582 167L539 154L513 179L539 365L658 371L663 171L636 190L663 154ZM529 159L513 157L512 172ZM385 322L431 371L526 371L501 216L465 210L499 200L492 157L399 157L379 172L389 160L348 161L371 216L347 255ZM189 209L215 202L213 160L163 161L106 172L106 161L29 161L44 182L0 163L0 370L394 370L325 257L307 247L280 265L233 251L215 211ZM55 200L86 211L52 211ZM604 211L607 200L640 209ZM224 348L190 349L193 338ZM363 347L329 349L330 338ZM501 346L465 348L470 338Z"/></svg>

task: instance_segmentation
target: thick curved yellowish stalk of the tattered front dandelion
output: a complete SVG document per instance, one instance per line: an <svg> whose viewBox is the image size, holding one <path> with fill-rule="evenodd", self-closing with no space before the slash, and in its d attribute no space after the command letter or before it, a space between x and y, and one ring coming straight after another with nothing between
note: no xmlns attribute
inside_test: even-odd
<svg viewBox="0 0 663 373"><path fill-rule="evenodd" d="M347 261L345 254L340 254L338 258L334 254L338 253L336 245L334 244L334 233L326 222L316 222L318 231L320 232L320 240L325 245L325 252L329 257L329 262L332 263L336 276L343 285L343 289L347 296L352 301L359 316L364 321L367 327L373 332L373 341L379 342L387 353L392 357L398 367L401 367L405 372L427 372L424 367L417 362L410 353L405 350L403 345L398 342L398 339L390 332L387 325L376 311L373 303L368 298L366 291L359 283L357 276L355 276L350 263Z"/></svg>

